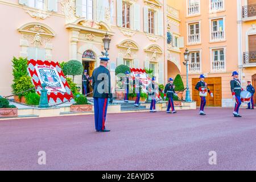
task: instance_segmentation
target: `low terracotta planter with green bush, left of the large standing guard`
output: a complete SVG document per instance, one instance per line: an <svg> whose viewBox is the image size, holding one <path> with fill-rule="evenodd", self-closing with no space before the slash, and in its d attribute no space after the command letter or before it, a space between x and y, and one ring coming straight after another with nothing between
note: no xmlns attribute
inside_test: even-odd
<svg viewBox="0 0 256 182"><path fill-rule="evenodd" d="M76 101L75 104L70 106L71 112L88 112L92 111L93 105L88 103L87 98L82 94L75 94L74 100Z"/></svg>

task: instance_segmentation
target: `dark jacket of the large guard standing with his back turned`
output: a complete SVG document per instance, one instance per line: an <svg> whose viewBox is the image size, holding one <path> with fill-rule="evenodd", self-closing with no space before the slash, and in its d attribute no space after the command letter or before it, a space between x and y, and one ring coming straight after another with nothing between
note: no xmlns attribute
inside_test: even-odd
<svg viewBox="0 0 256 182"><path fill-rule="evenodd" d="M94 69L92 75L93 97L112 98L110 72L104 66Z"/></svg>

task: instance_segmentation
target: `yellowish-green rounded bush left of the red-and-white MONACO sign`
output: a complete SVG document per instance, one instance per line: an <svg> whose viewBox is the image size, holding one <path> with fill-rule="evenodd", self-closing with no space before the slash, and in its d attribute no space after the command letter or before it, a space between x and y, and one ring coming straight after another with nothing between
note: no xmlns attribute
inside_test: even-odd
<svg viewBox="0 0 256 182"><path fill-rule="evenodd" d="M19 97L27 96L29 93L35 93L35 89L32 89L28 92L24 92L21 94L18 94L20 92L23 92L25 90L34 88L34 85L32 84L31 77L30 76L22 76L19 78L19 80L16 80L15 87L14 87L14 94L18 95Z"/></svg>

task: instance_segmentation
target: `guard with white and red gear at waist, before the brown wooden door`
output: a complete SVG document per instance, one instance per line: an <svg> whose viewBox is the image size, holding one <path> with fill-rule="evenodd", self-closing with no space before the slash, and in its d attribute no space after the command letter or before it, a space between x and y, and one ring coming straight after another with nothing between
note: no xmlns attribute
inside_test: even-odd
<svg viewBox="0 0 256 182"><path fill-rule="evenodd" d="M207 94L207 92L209 92L210 96L213 97L213 93L210 92L209 88L207 88L207 83L205 83L204 79L205 76L203 74L200 75L200 81L196 84L196 90L199 90L199 95L201 97L200 115L206 115L204 113L204 107L206 105L206 96L204 96L204 94Z"/></svg>

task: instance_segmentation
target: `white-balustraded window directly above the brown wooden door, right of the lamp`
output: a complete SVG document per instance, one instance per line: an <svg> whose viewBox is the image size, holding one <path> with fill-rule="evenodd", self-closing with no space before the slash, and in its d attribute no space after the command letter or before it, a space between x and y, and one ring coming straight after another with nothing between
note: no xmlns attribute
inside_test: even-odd
<svg viewBox="0 0 256 182"><path fill-rule="evenodd" d="M224 48L221 49L213 49L213 61L212 61L212 69L213 71L224 71L225 70L225 53Z"/></svg>

